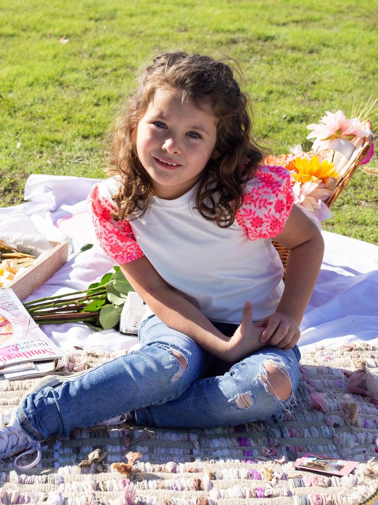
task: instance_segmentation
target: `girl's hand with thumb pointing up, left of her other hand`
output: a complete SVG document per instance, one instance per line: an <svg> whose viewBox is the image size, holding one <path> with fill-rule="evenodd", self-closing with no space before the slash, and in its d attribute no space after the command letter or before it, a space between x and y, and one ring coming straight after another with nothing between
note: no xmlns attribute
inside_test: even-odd
<svg viewBox="0 0 378 505"><path fill-rule="evenodd" d="M265 347L266 344L259 341L262 332L262 328L253 326L252 305L246 301L240 326L227 342L225 356L222 359L229 363L235 363L261 347Z"/></svg>

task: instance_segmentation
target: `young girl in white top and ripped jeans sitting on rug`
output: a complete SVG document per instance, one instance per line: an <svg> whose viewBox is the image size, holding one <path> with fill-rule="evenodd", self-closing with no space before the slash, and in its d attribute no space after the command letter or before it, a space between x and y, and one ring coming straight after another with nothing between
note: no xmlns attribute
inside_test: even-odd
<svg viewBox="0 0 378 505"><path fill-rule="evenodd" d="M289 172L262 164L228 65L172 51L138 82L112 132L111 177L87 203L100 246L148 307L141 347L45 377L2 415L0 458L38 452L22 468L41 440L75 427L229 426L296 400L320 232L293 206ZM273 238L290 249L285 285Z"/></svg>

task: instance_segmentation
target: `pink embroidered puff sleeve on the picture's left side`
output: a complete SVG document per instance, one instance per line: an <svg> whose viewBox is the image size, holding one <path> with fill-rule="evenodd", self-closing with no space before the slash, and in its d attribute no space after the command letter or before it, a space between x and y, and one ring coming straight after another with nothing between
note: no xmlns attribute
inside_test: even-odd
<svg viewBox="0 0 378 505"><path fill-rule="evenodd" d="M104 187L105 182L102 181L92 187L86 200L87 209L96 237L105 254L119 265L130 263L144 256L144 253L135 240L130 223L111 218L111 211L116 207L111 200L112 192Z"/></svg>

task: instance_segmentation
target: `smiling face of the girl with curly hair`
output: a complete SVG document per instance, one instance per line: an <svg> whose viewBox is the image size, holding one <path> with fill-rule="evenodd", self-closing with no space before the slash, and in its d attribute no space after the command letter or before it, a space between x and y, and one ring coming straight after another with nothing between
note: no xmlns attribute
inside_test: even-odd
<svg viewBox="0 0 378 505"><path fill-rule="evenodd" d="M210 106L204 112L181 99L180 90L157 89L137 126L139 160L156 196L167 200L195 186L217 141L217 119ZM215 151L213 157L218 156Z"/></svg>

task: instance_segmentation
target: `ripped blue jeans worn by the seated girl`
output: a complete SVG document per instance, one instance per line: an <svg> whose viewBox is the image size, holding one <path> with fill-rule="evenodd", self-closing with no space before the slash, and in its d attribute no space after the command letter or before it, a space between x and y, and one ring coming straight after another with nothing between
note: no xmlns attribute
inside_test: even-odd
<svg viewBox="0 0 378 505"><path fill-rule="evenodd" d="M226 336L238 327L212 324ZM34 440L44 440L126 412L145 426L234 426L278 418L296 403L297 345L288 350L265 346L227 363L154 315L142 322L138 337L140 349L26 395L17 412L21 427ZM264 364L278 368L291 383L287 400L266 380Z"/></svg>

